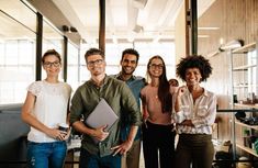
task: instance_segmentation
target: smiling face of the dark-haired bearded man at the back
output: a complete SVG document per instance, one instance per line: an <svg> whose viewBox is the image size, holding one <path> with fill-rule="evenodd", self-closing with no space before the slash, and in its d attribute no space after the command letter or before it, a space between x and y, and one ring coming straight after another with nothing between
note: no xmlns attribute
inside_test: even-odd
<svg viewBox="0 0 258 168"><path fill-rule="evenodd" d="M137 67L137 57L133 54L125 54L123 59L120 61L120 65L122 66L123 75L133 75Z"/></svg>

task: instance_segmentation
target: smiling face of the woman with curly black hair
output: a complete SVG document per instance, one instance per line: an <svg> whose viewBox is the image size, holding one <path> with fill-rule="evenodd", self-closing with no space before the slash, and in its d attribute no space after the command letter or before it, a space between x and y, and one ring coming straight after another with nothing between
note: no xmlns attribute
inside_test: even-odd
<svg viewBox="0 0 258 168"><path fill-rule="evenodd" d="M202 75L199 68L188 68L186 70L186 82L188 86L199 85L202 79Z"/></svg>

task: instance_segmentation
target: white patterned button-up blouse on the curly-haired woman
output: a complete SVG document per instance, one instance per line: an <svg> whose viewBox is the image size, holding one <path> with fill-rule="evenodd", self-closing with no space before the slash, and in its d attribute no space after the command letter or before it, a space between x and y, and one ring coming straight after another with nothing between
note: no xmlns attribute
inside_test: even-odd
<svg viewBox="0 0 258 168"><path fill-rule="evenodd" d="M181 96L180 111L173 111L176 123L191 120L194 126L178 125L178 133L186 134L212 134L212 124L216 117L216 96L207 90L193 103L189 90Z"/></svg>

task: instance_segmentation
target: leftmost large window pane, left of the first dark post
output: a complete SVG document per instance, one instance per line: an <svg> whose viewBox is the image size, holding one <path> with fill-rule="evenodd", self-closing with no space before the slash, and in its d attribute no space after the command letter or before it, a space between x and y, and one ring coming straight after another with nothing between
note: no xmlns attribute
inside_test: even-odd
<svg viewBox="0 0 258 168"><path fill-rule="evenodd" d="M21 103L35 80L36 14L18 0L0 9L0 104Z"/></svg>

